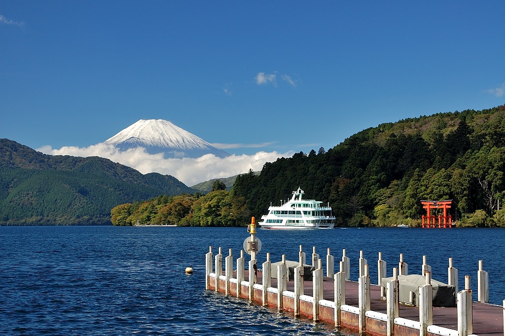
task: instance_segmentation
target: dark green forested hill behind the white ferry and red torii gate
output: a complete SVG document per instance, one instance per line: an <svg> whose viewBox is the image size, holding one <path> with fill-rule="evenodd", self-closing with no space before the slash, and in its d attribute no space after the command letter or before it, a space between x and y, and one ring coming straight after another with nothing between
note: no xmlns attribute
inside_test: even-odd
<svg viewBox="0 0 505 336"><path fill-rule="evenodd" d="M365 129L329 149L238 176L234 198L267 213L298 186L329 202L337 225L419 225L421 200L453 200L465 226L505 226L505 106L439 113Z"/></svg>

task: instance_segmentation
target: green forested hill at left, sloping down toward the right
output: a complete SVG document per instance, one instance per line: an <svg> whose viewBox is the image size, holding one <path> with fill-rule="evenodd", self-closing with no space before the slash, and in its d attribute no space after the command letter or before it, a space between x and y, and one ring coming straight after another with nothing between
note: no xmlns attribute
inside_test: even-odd
<svg viewBox="0 0 505 336"><path fill-rule="evenodd" d="M0 224L111 224L113 207L194 193L175 177L98 157L52 156L0 139Z"/></svg>

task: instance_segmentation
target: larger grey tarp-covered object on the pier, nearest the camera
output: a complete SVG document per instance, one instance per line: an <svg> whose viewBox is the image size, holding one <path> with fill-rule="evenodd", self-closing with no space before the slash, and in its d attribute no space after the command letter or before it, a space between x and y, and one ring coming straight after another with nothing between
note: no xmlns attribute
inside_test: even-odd
<svg viewBox="0 0 505 336"><path fill-rule="evenodd" d="M381 285L386 287L390 278L383 278ZM400 302L410 302L410 292L416 294L416 305L419 305L419 287L426 284L426 277L420 274L399 275L399 300ZM455 307L456 306L456 286L450 286L446 283L431 279L433 287L433 307Z"/></svg>

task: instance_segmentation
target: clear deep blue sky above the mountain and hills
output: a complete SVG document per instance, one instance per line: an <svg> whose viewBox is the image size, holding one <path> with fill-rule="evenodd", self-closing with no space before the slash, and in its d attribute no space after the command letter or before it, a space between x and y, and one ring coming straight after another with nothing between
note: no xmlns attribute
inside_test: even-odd
<svg viewBox="0 0 505 336"><path fill-rule="evenodd" d="M0 137L166 119L235 155L505 103L505 2L0 0Z"/></svg>

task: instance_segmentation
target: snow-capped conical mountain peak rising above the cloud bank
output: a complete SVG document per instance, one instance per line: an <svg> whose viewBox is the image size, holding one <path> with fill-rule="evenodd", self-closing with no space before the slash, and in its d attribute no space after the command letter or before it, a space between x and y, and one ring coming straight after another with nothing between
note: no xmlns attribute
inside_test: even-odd
<svg viewBox="0 0 505 336"><path fill-rule="evenodd" d="M163 119L141 119L103 143L120 151L142 147L149 154L163 153L165 158L199 158L205 154L224 158L230 155Z"/></svg>

